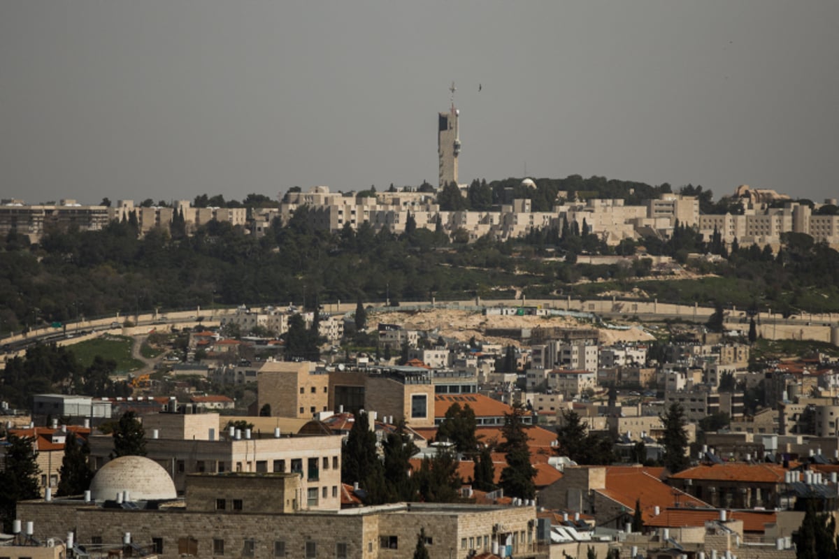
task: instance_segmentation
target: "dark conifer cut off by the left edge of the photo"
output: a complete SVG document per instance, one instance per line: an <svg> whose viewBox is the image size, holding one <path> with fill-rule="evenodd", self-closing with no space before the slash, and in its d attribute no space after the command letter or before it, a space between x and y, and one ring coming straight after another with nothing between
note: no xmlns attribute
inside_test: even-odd
<svg viewBox="0 0 839 559"><path fill-rule="evenodd" d="M6 457L0 471L0 517L3 531L12 533L12 520L17 518L18 501L37 499L38 453L34 450L34 438L8 435Z"/></svg>

